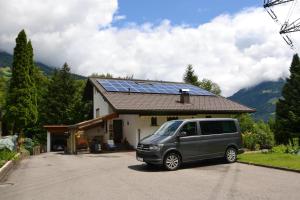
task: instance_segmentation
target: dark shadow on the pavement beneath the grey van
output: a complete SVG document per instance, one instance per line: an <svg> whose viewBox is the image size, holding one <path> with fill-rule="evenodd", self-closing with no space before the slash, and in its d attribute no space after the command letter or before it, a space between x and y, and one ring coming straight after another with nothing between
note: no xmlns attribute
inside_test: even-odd
<svg viewBox="0 0 300 200"><path fill-rule="evenodd" d="M218 159L211 159L211 160L202 160L197 162L189 162L184 163L178 170L185 170L185 169L197 169L197 170L207 170L207 167L212 167L211 169L216 170L217 166L227 164L223 158ZM128 166L129 169L139 171L139 172L161 172L166 171L163 166L156 166L156 165L148 165L146 163L141 163L139 165L130 165ZM226 167L227 168L227 167Z"/></svg>

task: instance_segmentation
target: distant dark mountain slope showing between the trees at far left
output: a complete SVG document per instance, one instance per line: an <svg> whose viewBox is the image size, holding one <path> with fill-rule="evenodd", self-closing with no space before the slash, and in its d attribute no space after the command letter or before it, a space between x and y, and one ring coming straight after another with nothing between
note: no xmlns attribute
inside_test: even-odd
<svg viewBox="0 0 300 200"><path fill-rule="evenodd" d="M13 56L9 53L0 51L0 68L1 67L11 67L13 62ZM45 73L45 75L49 76L54 72L55 67L50 67L41 62L35 62L35 64ZM84 76L73 74L76 79L85 79Z"/></svg>

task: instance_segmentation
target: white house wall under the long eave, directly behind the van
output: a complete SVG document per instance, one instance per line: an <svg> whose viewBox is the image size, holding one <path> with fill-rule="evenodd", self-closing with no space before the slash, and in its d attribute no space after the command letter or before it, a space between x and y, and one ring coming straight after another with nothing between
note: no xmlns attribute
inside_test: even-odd
<svg viewBox="0 0 300 200"><path fill-rule="evenodd" d="M189 118L205 118L211 116L212 118L226 118L233 117L230 114L201 114L195 116L140 116L140 115L120 115L119 118L123 120L123 137L133 146L136 147L138 143L138 132L140 130L141 139L154 133L164 122L167 117L178 117L179 119ZM151 126L151 117L157 117L157 125Z"/></svg>

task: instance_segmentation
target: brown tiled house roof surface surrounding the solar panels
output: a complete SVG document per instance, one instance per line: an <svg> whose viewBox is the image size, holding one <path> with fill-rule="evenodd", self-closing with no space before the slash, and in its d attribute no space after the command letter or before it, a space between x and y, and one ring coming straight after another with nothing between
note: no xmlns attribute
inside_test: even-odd
<svg viewBox="0 0 300 200"><path fill-rule="evenodd" d="M190 103L180 103L180 95L108 92L97 81L99 78L89 78L89 82L102 94L119 114L213 114L213 113L251 113L254 109L231 101L221 96L190 96ZM138 80L141 81L141 80ZM148 80L143 80L147 82ZM148 81L155 82L155 81ZM159 83L170 83L162 82ZM173 83L173 82L172 82Z"/></svg>

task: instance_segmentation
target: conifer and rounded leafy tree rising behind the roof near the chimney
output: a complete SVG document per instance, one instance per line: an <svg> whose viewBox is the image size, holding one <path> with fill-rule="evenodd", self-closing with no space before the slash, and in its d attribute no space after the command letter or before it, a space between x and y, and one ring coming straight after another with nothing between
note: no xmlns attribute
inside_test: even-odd
<svg viewBox="0 0 300 200"><path fill-rule="evenodd" d="M221 88L218 84L212 82L209 79L202 79L202 81L200 81L198 79L198 76L195 74L195 71L193 69L192 65L188 65L187 69L185 71L185 74L183 76L183 81L185 83L189 83L192 85L195 85L197 87L201 87L207 91L210 91L216 95L221 95Z"/></svg>

